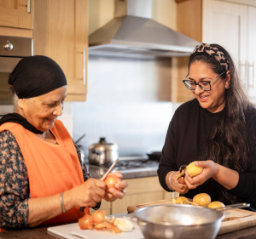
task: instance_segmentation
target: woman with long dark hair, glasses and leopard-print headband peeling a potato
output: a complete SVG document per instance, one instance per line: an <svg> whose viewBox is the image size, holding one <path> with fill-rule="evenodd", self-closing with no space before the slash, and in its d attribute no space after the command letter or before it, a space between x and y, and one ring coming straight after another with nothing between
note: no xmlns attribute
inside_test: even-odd
<svg viewBox="0 0 256 239"><path fill-rule="evenodd" d="M218 44L197 46L183 83L194 100L175 111L158 169L166 191L212 201L251 203L256 208L256 111L241 88L230 54ZM201 174L176 179L178 169L195 161Z"/></svg>

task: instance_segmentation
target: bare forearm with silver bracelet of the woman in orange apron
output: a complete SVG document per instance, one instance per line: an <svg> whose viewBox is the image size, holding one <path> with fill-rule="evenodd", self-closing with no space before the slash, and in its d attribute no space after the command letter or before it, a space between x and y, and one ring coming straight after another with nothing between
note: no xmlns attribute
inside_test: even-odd
<svg viewBox="0 0 256 239"><path fill-rule="evenodd" d="M67 210L73 208L72 202L69 197L65 198L65 194L63 194L63 202L64 207ZM38 198L31 198L28 200L28 219L27 224L30 227L37 226L43 223L45 220L52 219L55 216L62 213L61 210L61 193L53 195L53 196L45 196Z"/></svg>

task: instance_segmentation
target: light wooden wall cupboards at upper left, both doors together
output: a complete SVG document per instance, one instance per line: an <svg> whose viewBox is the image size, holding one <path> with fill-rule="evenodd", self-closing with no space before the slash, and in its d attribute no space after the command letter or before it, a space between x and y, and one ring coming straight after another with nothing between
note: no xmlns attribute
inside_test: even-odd
<svg viewBox="0 0 256 239"><path fill-rule="evenodd" d="M87 12L87 0L0 0L0 35L33 38L33 55L64 71L67 101L86 100Z"/></svg>

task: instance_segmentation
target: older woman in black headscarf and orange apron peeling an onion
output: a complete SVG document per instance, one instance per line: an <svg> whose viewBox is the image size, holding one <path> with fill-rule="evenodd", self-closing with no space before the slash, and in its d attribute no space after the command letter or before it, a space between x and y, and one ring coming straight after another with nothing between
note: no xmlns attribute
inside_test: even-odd
<svg viewBox="0 0 256 239"><path fill-rule="evenodd" d="M108 193L104 182L91 179L79 148L56 119L67 96L60 66L44 56L25 58L9 84L17 96L15 112L0 121L0 227L77 220L84 215L80 207L99 208L102 198L123 198L127 183Z"/></svg>

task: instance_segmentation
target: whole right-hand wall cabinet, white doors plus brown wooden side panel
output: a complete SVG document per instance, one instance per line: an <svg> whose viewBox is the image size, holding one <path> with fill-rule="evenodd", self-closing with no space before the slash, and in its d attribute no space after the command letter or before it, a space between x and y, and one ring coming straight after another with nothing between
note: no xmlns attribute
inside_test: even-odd
<svg viewBox="0 0 256 239"><path fill-rule="evenodd" d="M226 48L250 99L256 101L255 40L256 8L232 1L190 0L177 3L177 31L203 43L218 43ZM246 3L246 2L243 2ZM182 79L187 74L187 60L177 60L178 102L187 100Z"/></svg>

